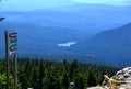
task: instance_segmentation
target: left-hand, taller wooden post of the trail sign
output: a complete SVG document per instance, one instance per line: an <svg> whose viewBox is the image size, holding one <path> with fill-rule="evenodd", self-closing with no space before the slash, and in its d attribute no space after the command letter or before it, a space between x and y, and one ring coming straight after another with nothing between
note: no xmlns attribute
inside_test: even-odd
<svg viewBox="0 0 131 89"><path fill-rule="evenodd" d="M7 66L7 89L9 89L9 36L8 36L8 32L4 32L5 35L5 66Z"/></svg>

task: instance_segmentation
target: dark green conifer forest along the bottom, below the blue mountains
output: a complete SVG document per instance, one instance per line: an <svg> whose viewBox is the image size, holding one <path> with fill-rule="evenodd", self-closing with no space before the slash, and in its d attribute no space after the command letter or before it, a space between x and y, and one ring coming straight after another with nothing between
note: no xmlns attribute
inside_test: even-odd
<svg viewBox="0 0 131 89"><path fill-rule="evenodd" d="M103 75L112 76L118 68L73 62L53 62L38 58L19 59L19 89L85 89L100 85ZM13 60L10 60L10 86L13 89ZM5 89L5 62L0 59L0 88Z"/></svg>

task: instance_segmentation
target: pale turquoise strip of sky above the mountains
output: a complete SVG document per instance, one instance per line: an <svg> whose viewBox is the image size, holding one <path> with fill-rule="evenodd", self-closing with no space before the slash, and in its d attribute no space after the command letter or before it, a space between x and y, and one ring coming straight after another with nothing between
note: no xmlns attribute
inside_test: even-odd
<svg viewBox="0 0 131 89"><path fill-rule="evenodd" d="M1 0L0 10L46 9L79 3L131 5L131 0Z"/></svg>

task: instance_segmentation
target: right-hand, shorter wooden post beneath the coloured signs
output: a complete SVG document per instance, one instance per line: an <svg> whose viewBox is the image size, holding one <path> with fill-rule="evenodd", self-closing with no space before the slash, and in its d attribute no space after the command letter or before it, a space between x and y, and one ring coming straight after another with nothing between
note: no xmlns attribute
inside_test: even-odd
<svg viewBox="0 0 131 89"><path fill-rule="evenodd" d="M14 54L14 89L17 89L17 56Z"/></svg>

